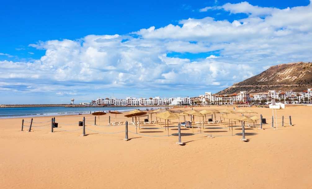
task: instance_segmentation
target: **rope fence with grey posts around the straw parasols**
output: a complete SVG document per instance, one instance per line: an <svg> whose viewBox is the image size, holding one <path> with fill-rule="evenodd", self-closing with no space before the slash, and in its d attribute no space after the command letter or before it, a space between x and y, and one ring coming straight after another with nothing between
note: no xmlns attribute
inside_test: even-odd
<svg viewBox="0 0 312 189"><path fill-rule="evenodd" d="M81 118L81 116L68 116L68 117L78 117L78 118ZM64 118L64 117L63 117ZM182 133L184 136L188 136L188 135L197 135L197 134L201 134L201 135L204 135L208 138L215 138L215 137L227 137L227 136L234 136L233 135L233 119L231 118L224 118L222 117L224 122L224 128L222 127L217 127L218 129L227 129L226 127L226 124L228 125L229 129L230 127L232 127L232 135L212 135L212 134L207 134L207 133L203 133L201 130L199 132L192 132L192 133ZM55 117L54 118L51 118L51 120L47 120L47 121L41 121L41 122L35 122L33 118L31 118L29 121L26 121L25 119L22 119L22 128L21 128L21 131L24 131L24 127L27 127L27 130L28 132L31 132L32 129L46 129L46 128L49 128L51 127L51 133L54 133L54 132L59 132L59 131L63 131L63 132L76 132L76 131L79 131L79 130L83 130L82 131L82 134L80 136L87 136L88 134L85 133L85 131L90 131L90 132L94 132L94 133L99 133L99 134L118 134L118 133L125 133L125 138L123 140L130 140L131 138L128 138L128 133L131 133L131 134L134 134L134 135L140 135L140 136L146 136L146 137L170 137L170 136L177 136L178 135L178 138L179 138L179 142L178 144L182 145L182 144L185 144L185 143L182 143L181 142L181 125L180 123L178 123L177 126L170 126L169 128L178 128L178 133L174 133L174 134L166 134L166 135L149 135L149 134L144 134L144 133L138 133L137 131L136 132L132 132L132 131L129 131L128 130L128 121L125 120L125 118L117 118L119 120L122 120L124 121L125 124L120 124L120 125L100 125L100 122L107 122L107 121L110 121L110 117L109 119L102 119L102 120L96 120L96 117L95 116L85 116L83 117L83 120L82 121L78 121L78 123L66 123L65 121L63 121L64 119L60 119L61 121L63 122L55 122ZM221 119L221 117L220 117ZM226 121L227 119L227 121ZM288 119L289 121L285 122L285 119ZM116 120L116 119L115 119ZM220 125L222 125L222 121L221 120L221 123ZM256 124L256 127L258 128L258 126L260 125L260 128L262 129L262 124L271 124L271 128L274 127L274 124L282 124L282 127L285 127L284 124L286 125L289 125L289 126L294 126L291 122L291 116L289 117L284 117L284 116L281 116L281 117L278 117L277 119L276 118L263 118L262 115L260 117L260 119L257 119L257 120L254 120L254 121L259 121L260 120L260 123L259 124ZM276 120L279 120L279 122L277 122ZM238 121L238 120L236 120ZM264 122L263 122L264 121ZM268 123L266 123L266 121L269 121ZM96 124L98 123L98 124ZM75 125L79 125L81 126L80 128L73 128L73 129L61 129L61 127L59 127L59 125L63 125L63 126L67 126L67 127L74 127ZM138 125L135 125L135 124L130 124L131 126L135 127L137 129ZM157 124L158 125L158 124ZM243 125L243 124L242 124ZM90 127L95 127L95 128L89 128L89 127L85 127L85 126L90 126ZM204 124L202 124L203 128L204 128ZM244 124L245 126L245 124ZM243 130L243 139L245 138L245 131L244 131L244 126L242 128ZM120 128L120 127L125 127L124 129L121 129L120 131L114 131L114 132L103 132L103 131L98 131L96 128ZM192 126L194 127L194 126ZM196 126L195 126L196 127ZM198 126L200 127L200 126ZM237 126L236 126L237 127ZM139 126L139 128L142 128L142 129L166 129L166 127L152 127L150 125L146 126L146 125L141 125ZM168 127L167 127L168 128ZM211 128L209 127L209 124L206 125L206 128ZM212 127L213 128L213 127ZM236 133L237 134L237 133ZM244 140L245 141L245 140Z"/></svg>

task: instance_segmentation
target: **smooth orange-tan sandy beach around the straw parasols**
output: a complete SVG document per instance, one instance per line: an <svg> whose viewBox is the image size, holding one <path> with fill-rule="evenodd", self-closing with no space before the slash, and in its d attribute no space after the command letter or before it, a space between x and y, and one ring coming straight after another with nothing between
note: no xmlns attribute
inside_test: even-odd
<svg viewBox="0 0 312 189"><path fill-rule="evenodd" d="M233 110L233 106L194 109ZM272 117L268 108L240 109L251 109L258 113L251 115L262 114L266 119ZM234 136L224 124L205 125L205 129L194 127L193 132L192 128L182 127L184 146L176 144L178 136L172 135L178 133L175 127L178 119L169 123L170 136L165 136L164 120L162 128L143 125L138 128L139 134L135 133L135 126L129 125L129 141L123 140L125 125L104 127L109 116L111 122L115 121L115 114L100 116L100 126L92 125L95 116L90 114L59 116L56 117L59 126L53 133L50 133L51 117L34 118L31 132L27 126L21 131L22 118L0 119L0 185L1 188L312 188L311 110L311 106L286 106L278 110L278 117L284 115L285 123L289 123L286 118L291 115L294 126L281 127L279 123L274 130L270 119L264 129L246 127L248 142L235 135L241 133L238 122L233 127ZM132 121L125 114L117 114L117 121ZM240 115L228 114L228 118ZM87 136L82 137L78 121L83 116ZM155 114L152 118L156 120ZM30 118L24 120L29 125ZM195 116L195 121L200 120ZM35 127L41 125L44 126ZM209 135L215 138L208 138Z"/></svg>

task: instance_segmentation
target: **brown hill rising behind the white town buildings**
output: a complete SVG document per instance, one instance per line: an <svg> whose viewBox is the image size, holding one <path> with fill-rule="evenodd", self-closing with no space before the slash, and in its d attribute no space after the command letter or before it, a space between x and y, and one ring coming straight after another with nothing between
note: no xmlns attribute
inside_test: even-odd
<svg viewBox="0 0 312 189"><path fill-rule="evenodd" d="M239 91L252 94L268 90L300 92L306 90L308 86L312 87L312 63L293 62L271 66L264 72L236 83L217 94L233 94Z"/></svg>

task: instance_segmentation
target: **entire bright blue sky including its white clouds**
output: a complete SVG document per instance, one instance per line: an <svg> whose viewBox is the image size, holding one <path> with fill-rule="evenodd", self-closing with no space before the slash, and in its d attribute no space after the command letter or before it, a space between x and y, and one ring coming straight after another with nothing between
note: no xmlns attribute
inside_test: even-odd
<svg viewBox="0 0 312 189"><path fill-rule="evenodd" d="M308 0L2 2L0 104L217 92L311 61L310 12Z"/></svg>

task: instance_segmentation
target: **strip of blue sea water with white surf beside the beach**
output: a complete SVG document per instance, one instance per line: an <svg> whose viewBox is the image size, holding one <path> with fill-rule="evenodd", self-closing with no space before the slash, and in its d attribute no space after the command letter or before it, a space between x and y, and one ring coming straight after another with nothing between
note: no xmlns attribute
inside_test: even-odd
<svg viewBox="0 0 312 189"><path fill-rule="evenodd" d="M15 117L38 117L38 116L58 116L58 115L78 115L90 114L95 111L126 112L133 109L159 109L163 107L25 107L25 108L0 108L0 119Z"/></svg>

